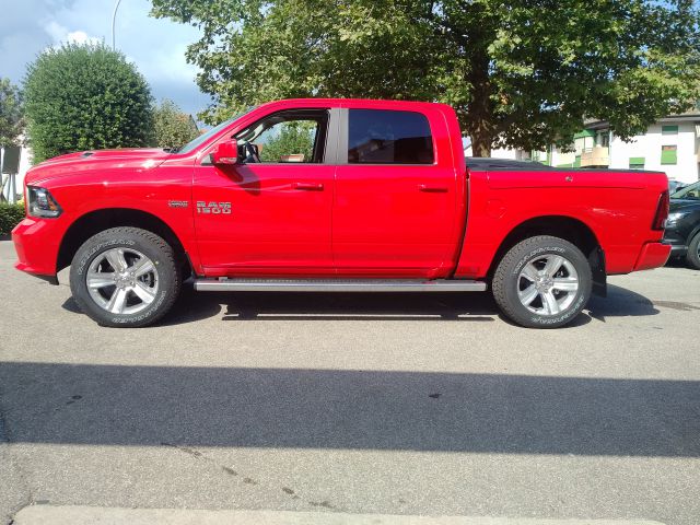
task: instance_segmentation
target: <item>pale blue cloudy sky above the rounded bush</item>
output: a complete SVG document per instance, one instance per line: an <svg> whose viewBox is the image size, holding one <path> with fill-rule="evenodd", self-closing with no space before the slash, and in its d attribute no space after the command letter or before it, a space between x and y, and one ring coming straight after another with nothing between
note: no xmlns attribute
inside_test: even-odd
<svg viewBox="0 0 700 525"><path fill-rule="evenodd" d="M63 42L110 46L114 7L115 0L0 0L0 77L20 84L42 49ZM153 19L150 8L149 0L121 0L116 48L145 77L156 101L171 98L195 116L209 104L195 83L197 68L185 60L199 30Z"/></svg>

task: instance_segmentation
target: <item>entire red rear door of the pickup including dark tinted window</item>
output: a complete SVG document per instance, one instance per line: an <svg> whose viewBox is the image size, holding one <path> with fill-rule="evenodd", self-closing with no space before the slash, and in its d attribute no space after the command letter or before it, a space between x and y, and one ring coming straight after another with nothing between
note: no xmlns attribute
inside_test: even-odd
<svg viewBox="0 0 700 525"><path fill-rule="evenodd" d="M446 124L439 112L430 117L418 110L342 110L332 220L339 275L446 271L460 196Z"/></svg>

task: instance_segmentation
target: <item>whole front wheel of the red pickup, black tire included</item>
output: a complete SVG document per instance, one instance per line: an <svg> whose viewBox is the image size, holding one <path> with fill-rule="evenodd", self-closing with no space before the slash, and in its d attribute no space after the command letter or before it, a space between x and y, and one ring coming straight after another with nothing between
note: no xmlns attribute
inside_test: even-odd
<svg viewBox="0 0 700 525"><path fill-rule="evenodd" d="M126 261L124 272L112 268L107 261L107 256L115 253L121 254L119 260ZM129 270L138 268L137 264L140 262L144 264L143 269L145 262L150 262L148 268L153 269L142 277L133 277L137 271L129 277ZM91 279L95 276L115 276L112 277L115 283L89 288L89 273ZM182 272L173 248L154 233L138 228L113 228L93 235L78 249L70 268L73 299L89 317L102 326L136 328L155 323L175 303L180 284ZM139 285L140 289L136 290ZM122 295L115 304L118 302L122 308L109 304L118 288L124 290L119 292ZM143 296L149 301L142 300L144 293ZM98 302L108 304L101 305ZM107 307L117 311L106 310Z"/></svg>

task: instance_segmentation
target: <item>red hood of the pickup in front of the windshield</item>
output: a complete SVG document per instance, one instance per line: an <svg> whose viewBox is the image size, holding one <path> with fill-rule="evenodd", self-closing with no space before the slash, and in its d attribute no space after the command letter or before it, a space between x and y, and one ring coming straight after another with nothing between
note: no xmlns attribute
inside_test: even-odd
<svg viewBox="0 0 700 525"><path fill-rule="evenodd" d="M32 167L26 184L75 175L80 172L128 170L130 173L160 166L171 153L161 148L132 148L118 150L90 150L55 156Z"/></svg>

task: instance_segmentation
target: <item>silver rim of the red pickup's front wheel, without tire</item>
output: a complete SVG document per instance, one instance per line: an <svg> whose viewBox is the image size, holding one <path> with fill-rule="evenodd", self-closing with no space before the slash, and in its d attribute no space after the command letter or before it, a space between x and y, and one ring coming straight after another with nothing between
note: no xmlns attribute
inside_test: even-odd
<svg viewBox="0 0 700 525"><path fill-rule="evenodd" d="M113 314L138 314L158 294L158 269L141 252L112 248L95 257L85 283L101 308Z"/></svg>

